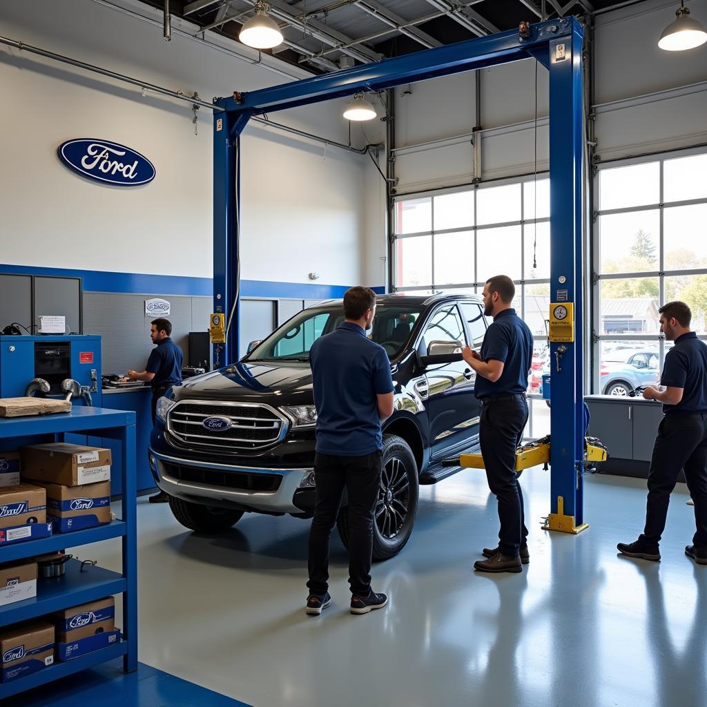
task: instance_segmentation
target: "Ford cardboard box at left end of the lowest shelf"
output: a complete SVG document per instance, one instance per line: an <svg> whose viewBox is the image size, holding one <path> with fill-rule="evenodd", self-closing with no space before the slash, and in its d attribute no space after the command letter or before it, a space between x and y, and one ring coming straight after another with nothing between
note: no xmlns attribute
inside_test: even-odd
<svg viewBox="0 0 707 707"><path fill-rule="evenodd" d="M0 679L10 682L54 662L54 626L47 621L0 629Z"/></svg>

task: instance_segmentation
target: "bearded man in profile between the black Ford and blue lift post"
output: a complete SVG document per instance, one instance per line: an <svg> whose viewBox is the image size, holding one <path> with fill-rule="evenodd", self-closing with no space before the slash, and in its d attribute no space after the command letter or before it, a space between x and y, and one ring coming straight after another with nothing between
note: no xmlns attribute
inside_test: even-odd
<svg viewBox="0 0 707 707"><path fill-rule="evenodd" d="M464 361L477 373L474 395L481 404L479 442L489 488L498 499L498 547L484 548L479 572L522 572L530 561L523 494L515 473L515 449L528 419L525 391L532 365L532 333L510 306L513 280L497 275L484 286L484 314L493 317L481 354L467 346Z"/></svg>

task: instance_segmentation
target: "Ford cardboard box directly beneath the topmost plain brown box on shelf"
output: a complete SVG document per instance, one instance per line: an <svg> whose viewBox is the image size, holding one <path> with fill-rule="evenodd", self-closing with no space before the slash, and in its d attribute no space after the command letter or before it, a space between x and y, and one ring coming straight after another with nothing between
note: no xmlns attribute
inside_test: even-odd
<svg viewBox="0 0 707 707"><path fill-rule="evenodd" d="M47 490L47 516L54 532L83 530L110 523L110 481L83 486L44 484Z"/></svg>

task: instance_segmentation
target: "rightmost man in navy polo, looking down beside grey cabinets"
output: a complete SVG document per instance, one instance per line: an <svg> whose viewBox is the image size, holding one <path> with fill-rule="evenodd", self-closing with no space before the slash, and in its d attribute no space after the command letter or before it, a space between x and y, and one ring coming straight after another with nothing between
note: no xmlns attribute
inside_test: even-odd
<svg viewBox="0 0 707 707"><path fill-rule="evenodd" d="M707 346L690 329L690 308L668 302L660 313L660 331L675 345L665 355L660 385L648 386L646 400L663 404L648 470L645 528L636 542L617 545L619 552L644 560L660 560L660 536L665 530L670 493L681 471L694 501L696 532L685 554L707 565Z"/></svg>

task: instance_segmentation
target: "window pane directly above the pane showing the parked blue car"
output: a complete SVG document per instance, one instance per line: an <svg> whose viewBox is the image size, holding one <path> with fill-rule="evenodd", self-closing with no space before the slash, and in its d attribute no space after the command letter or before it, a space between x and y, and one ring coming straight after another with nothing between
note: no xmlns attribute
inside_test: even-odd
<svg viewBox="0 0 707 707"><path fill-rule="evenodd" d="M601 334L660 331L657 277L602 280L600 306Z"/></svg>

